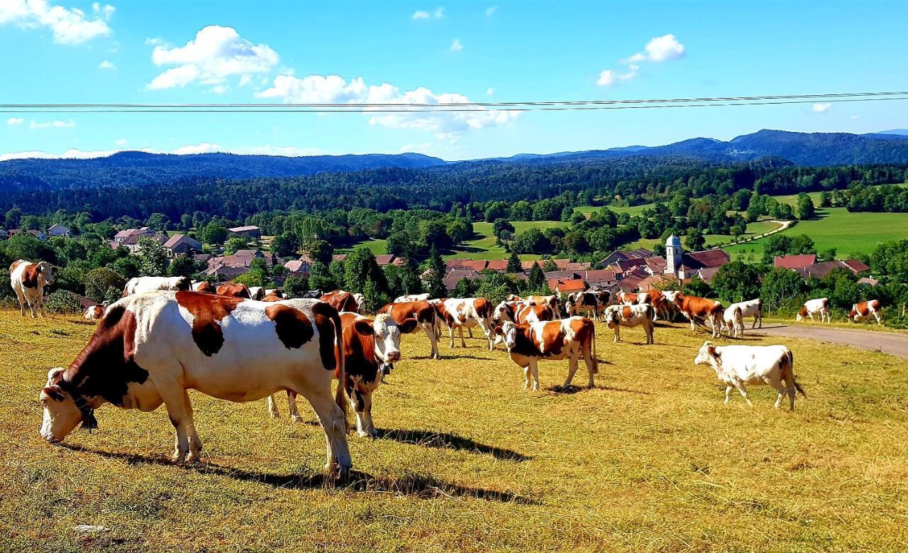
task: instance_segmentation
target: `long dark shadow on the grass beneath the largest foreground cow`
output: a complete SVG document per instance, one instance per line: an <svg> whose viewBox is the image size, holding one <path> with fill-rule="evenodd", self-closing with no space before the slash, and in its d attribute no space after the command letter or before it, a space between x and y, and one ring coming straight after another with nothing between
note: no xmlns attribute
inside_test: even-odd
<svg viewBox="0 0 908 553"><path fill-rule="evenodd" d="M140 455L137 453L123 453L117 451L103 451L100 449L82 448L68 444L61 447L74 451L100 455L107 459L121 459L130 465L166 465L204 475L222 476L244 482L255 482L281 489L337 489L352 492L383 492L393 493L414 499L439 499L439 498L473 498L502 503L519 503L525 505L538 505L538 501L520 496L508 491L496 489L470 488L445 482L429 475L410 474L400 479L378 477L362 472L350 470L347 479L335 479L322 472L308 474L273 474L260 470L237 469L226 467L217 463L200 461L197 463L174 463L163 455Z"/></svg>

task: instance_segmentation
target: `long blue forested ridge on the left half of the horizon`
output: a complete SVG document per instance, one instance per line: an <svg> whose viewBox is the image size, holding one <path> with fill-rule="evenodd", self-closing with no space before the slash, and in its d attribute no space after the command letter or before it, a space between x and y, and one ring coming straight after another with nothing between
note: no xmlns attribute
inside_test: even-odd
<svg viewBox="0 0 908 553"><path fill-rule="evenodd" d="M0 190L11 186L59 188L146 185L199 179L252 179L315 173L342 173L399 167L419 169L443 165L421 153L364 155L237 155L234 153L121 152L95 159L24 159L0 163Z"/></svg>

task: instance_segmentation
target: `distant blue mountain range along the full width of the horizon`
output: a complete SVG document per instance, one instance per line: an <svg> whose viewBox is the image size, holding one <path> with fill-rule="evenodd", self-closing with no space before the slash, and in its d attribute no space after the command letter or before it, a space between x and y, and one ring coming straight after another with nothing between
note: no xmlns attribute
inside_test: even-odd
<svg viewBox="0 0 908 553"><path fill-rule="evenodd" d="M712 138L691 138L664 146L625 146L607 150L561 153L520 153L450 163L420 153L365 155L313 155L283 157L199 153L121 152L95 159L22 159L0 162L0 189L9 187L86 186L114 183L137 185L180 183L197 179L251 179L287 177L314 173L357 172L369 169L425 169L476 163L530 165L607 163L609 160L639 156L685 157L713 163L747 162L779 158L798 165L844 165L908 163L908 129L884 133L789 133L762 130L723 142Z"/></svg>

